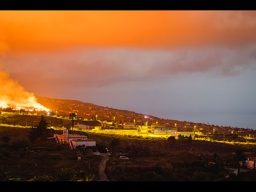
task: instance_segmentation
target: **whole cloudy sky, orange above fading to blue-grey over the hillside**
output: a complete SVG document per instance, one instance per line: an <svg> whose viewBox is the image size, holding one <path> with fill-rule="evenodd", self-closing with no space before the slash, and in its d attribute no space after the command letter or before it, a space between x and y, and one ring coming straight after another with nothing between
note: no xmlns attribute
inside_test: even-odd
<svg viewBox="0 0 256 192"><path fill-rule="evenodd" d="M0 70L36 96L256 129L255 34L256 11L0 11Z"/></svg>

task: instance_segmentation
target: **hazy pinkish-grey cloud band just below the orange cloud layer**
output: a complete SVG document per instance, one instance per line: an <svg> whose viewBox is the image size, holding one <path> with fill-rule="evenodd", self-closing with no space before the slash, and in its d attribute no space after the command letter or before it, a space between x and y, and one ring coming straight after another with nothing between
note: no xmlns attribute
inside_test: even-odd
<svg viewBox="0 0 256 192"><path fill-rule="evenodd" d="M73 48L54 53L10 54L2 58L12 78L66 87L106 86L179 74L238 75L255 67L256 45L205 46L179 50ZM25 82L25 81L24 81Z"/></svg>

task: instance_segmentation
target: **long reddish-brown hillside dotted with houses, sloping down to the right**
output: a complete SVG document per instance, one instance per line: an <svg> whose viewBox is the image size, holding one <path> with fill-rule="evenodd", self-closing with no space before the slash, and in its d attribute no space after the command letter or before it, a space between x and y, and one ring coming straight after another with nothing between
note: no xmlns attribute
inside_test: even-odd
<svg viewBox="0 0 256 192"><path fill-rule="evenodd" d="M204 129L206 132L213 133L213 129L218 131L218 133L230 133L230 126L222 127L215 125L208 125L199 122L187 122L187 121L178 121L178 120L169 120L151 116L149 114L136 113L134 111L120 110L110 107L99 106L96 104L82 102L78 100L68 100L68 99L56 99L56 98L47 98L47 97L37 97L37 100L43 106L51 109L49 113L51 116L58 115L63 117L68 117L70 113L74 112L77 115L77 118L80 120L101 120L112 122L115 118L115 121L120 123L136 122L136 125L143 125L145 122L148 122L148 125L155 124L176 124L177 127L194 127L197 129ZM145 116L147 118L145 118ZM235 130L237 131L237 130Z"/></svg>

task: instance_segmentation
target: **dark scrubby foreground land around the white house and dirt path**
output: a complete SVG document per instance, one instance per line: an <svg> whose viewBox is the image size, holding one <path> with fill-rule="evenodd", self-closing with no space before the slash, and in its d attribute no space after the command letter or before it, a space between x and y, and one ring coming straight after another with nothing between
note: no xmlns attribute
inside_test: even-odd
<svg viewBox="0 0 256 192"><path fill-rule="evenodd" d="M102 157L92 152L111 150L105 173L110 181L191 181L254 180L254 171L230 174L225 167L236 167L232 152L256 152L255 145L228 144L204 140L168 140L117 134L76 131L96 141L96 148L71 150L55 140L29 139L31 128L0 126L0 180L54 180L60 168L72 170L80 181L100 181ZM62 134L62 130L55 130ZM52 133L52 136L53 134ZM127 160L118 158L120 155ZM78 160L78 156L81 160ZM216 162L210 166L209 162ZM62 170L63 171L63 170ZM250 176L248 176L250 174ZM229 176L227 178L227 176ZM226 177L226 178L225 178Z"/></svg>

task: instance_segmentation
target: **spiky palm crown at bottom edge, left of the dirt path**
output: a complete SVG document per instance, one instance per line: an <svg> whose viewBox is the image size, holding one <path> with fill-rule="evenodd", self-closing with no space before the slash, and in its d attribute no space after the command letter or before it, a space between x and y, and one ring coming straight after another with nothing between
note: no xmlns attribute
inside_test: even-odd
<svg viewBox="0 0 256 192"><path fill-rule="evenodd" d="M59 168L53 176L44 177L48 181L76 181L74 170L70 168Z"/></svg>

